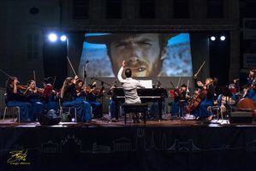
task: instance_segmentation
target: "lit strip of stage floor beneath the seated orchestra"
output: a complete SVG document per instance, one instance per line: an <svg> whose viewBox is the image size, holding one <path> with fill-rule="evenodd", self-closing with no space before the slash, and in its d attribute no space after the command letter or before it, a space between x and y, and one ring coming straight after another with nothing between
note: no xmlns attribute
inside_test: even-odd
<svg viewBox="0 0 256 171"><path fill-rule="evenodd" d="M210 122L193 119L193 115L186 116L185 118L171 119L170 115L164 115L164 119L147 119L146 124L141 121L134 123L130 116L127 118L127 123L124 124L124 119L121 117L118 121L111 121L108 115L104 115L102 119L92 119L87 123L60 122L55 126L44 127L256 127L256 121L252 123L230 123L228 119L213 118ZM16 118L7 118L3 121L0 120L0 127L40 127L39 122L18 123Z"/></svg>

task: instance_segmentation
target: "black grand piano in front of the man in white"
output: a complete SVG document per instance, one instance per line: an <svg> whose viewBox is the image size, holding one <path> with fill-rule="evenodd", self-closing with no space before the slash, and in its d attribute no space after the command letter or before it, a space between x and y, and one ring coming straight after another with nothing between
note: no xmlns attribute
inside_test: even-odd
<svg viewBox="0 0 256 171"><path fill-rule="evenodd" d="M146 88L146 89L137 89L138 96L140 97L141 103L146 102L158 102L159 107L159 120L162 119L162 103L165 97L167 96L167 91L164 88ZM122 88L114 88L112 99L116 103L116 120L119 115L119 106L121 102L124 102L124 92Z"/></svg>

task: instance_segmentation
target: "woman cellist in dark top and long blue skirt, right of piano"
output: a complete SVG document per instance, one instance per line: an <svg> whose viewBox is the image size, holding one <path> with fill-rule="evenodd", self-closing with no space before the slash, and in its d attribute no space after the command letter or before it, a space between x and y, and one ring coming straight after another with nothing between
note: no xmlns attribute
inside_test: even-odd
<svg viewBox="0 0 256 171"><path fill-rule="evenodd" d="M214 101L214 92L215 92L215 87L213 85L213 80L211 78L207 78L205 80L205 84L203 84L201 81L196 82L196 87L198 88L195 91L195 95L199 95L202 92L205 92L205 97L203 97L199 103L199 106L196 107L196 109L193 110L192 114L197 118L197 119L206 119L206 121L211 121L212 115L211 113L207 110L209 106L213 105Z"/></svg>

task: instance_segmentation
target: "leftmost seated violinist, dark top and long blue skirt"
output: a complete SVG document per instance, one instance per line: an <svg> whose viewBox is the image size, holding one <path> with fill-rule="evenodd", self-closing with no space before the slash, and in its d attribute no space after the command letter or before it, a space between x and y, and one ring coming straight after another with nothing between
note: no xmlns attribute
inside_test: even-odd
<svg viewBox="0 0 256 171"><path fill-rule="evenodd" d="M23 92L18 89L17 84L18 79L15 77L9 77L6 81L6 106L20 108L21 122L31 121L32 118L30 118L30 116L32 115L32 105L31 103L25 102Z"/></svg>

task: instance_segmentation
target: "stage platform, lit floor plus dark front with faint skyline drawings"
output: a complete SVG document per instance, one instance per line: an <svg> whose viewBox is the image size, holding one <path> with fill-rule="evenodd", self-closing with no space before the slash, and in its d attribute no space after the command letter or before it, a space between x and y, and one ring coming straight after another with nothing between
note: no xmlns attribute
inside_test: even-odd
<svg viewBox="0 0 256 171"><path fill-rule="evenodd" d="M0 170L255 170L256 123L0 123ZM14 160L15 159L15 160Z"/></svg>

